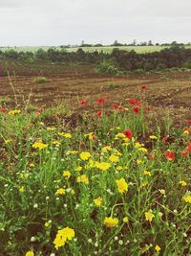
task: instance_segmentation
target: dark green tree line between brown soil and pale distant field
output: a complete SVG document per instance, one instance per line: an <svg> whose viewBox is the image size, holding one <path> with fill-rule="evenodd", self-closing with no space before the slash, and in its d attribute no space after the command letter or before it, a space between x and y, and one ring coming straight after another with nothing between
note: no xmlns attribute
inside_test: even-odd
<svg viewBox="0 0 191 256"><path fill-rule="evenodd" d="M160 52L138 54L134 50L125 51L117 48L112 53L95 51L85 52L79 48L76 52L67 52L65 49L50 48L48 51L39 49L32 52L16 52L14 50L0 51L0 57L13 58L26 61L50 62L80 62L100 65L108 63L121 71L151 71L172 67L191 68L191 49L178 45L161 50ZM110 68L111 69L111 68Z"/></svg>

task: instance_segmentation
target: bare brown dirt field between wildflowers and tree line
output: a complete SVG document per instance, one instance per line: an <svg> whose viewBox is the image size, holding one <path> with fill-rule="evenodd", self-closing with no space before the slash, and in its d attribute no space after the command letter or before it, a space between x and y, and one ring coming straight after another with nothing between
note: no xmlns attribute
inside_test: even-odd
<svg viewBox="0 0 191 256"><path fill-rule="evenodd" d="M175 119L190 119L191 109L191 73L166 73L127 78L111 79L98 77L93 66L67 66L26 64L21 62L0 62L5 70L11 73L8 77L0 77L0 103L13 105L15 98L11 83L15 89L18 102L23 105L30 96L30 102L37 107L56 105L63 101L73 109L80 110L80 100L95 101L98 97L107 98L107 106L113 103L124 105L130 98L146 99L157 115L164 110L171 112ZM15 75L13 75L15 71ZM34 83L36 76L46 76L46 83ZM113 82L117 86L108 85ZM144 96L140 93L140 85L148 84ZM87 107L87 106L86 106Z"/></svg>

